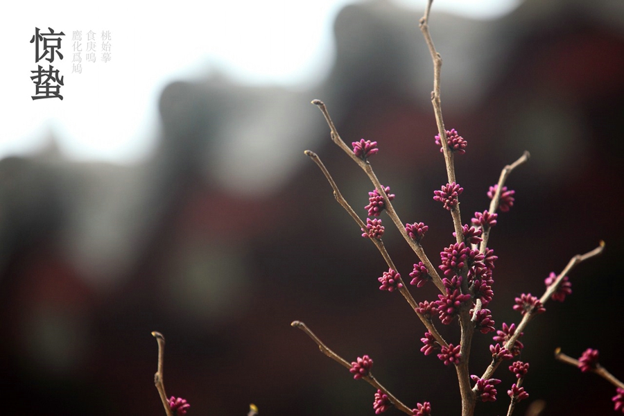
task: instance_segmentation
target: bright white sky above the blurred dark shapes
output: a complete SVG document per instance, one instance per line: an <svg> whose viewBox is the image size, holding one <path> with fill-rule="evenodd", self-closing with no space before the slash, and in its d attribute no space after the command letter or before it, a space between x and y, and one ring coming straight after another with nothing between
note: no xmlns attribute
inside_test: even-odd
<svg viewBox="0 0 624 416"><path fill-rule="evenodd" d="M425 0L393 0L423 10ZM64 156L132 163L155 147L157 98L172 80L219 71L236 82L302 88L333 63L332 22L357 0L13 1L3 3L0 33L0 158L46 146ZM436 0L434 10L495 19L521 0ZM64 76L58 98L33 101L35 26L63 31ZM72 34L82 31L82 73L72 73ZM87 32L97 33L97 61L85 62ZM101 32L110 31L110 62ZM43 60L43 67L49 64ZM41 61L39 62L41 64Z"/></svg>

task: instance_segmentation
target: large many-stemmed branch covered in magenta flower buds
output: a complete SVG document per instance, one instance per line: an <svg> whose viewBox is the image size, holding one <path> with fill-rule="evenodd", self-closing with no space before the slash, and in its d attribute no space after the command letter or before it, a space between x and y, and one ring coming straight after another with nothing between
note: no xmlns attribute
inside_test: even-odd
<svg viewBox="0 0 624 416"><path fill-rule="evenodd" d="M392 262L392 259L390 259L390 254L388 254L381 241L381 235L383 235L384 231L381 220L377 218L371 220L368 218L367 224L365 224L354 209L347 203L345 198L343 198L336 182L334 182L318 155L311 150L306 150L305 154L311 157L313 162L318 165L331 184L333 194L338 203L345 208L349 215L356 221L364 232L363 236L373 241L376 248L381 252L383 259L385 259L388 264L388 272L384 272L383 276L379 278L379 281L382 282L380 289L389 292L397 289L397 291L405 297L412 309L416 311L418 317L428 329L428 332L425 333L425 338L422 338L425 346L421 351L424 352L425 355L428 355L435 349L441 349L437 357L440 358L445 365L455 365L462 397L462 416L472 416L474 415L476 402L479 399L480 401L496 400L496 389L494 385L498 384L500 381L492 379L492 374L496 368L499 367L503 359L510 359L519 354L522 345L518 338L523 335L523 330L526 328L528 322L530 322L537 313L546 311L544 304L551 299L551 297L555 297L556 300L563 300L566 293L571 293L566 274L578 263L600 254L603 251L604 243L600 242L598 248L586 254L579 254L573 257L560 275L555 276L555 274L552 273L551 277L545 281L546 291L544 291L544 295L542 295L541 298L538 299L530 293L523 293L518 297L514 305L514 310L522 313L523 318L521 322L519 322L517 327L515 324L507 325L503 323L503 329L497 331L498 335L494 336L494 340L498 341L500 344L490 346L492 363L487 367L482 377L470 375L468 361L475 329L479 329L483 333L496 331L491 312L489 309L483 309L483 306L487 306L487 303L492 300L492 295L494 294L491 286L494 282L492 279L492 269L494 268L496 256L493 250L487 248L490 229L492 226L496 225L496 218L498 216L496 211L508 211L513 205L514 191L510 191L505 187L505 181L515 168L528 161L530 155L528 152L524 152L517 161L503 168L499 177L499 182L495 184L494 187L490 187L487 193L489 198L492 199L489 204L489 211L486 210L482 213L476 212L476 218L472 219L474 226L462 225L458 196L462 193L463 188L456 182L454 157L456 153L460 155L465 153L467 141L460 137L456 130L451 129L447 131L444 128L440 98L442 58L435 50L431 34L428 30L428 17L432 2L433 0L428 0L424 16L419 21L419 27L424 35L433 60L434 80L431 101L437 123L437 130L439 132L439 135L435 138L435 142L439 144L440 151L444 154L448 179L447 184L442 185L442 189L434 191L435 197L433 199L442 202L444 208L450 211L453 219L453 228L455 229L453 235L456 237L456 243L451 244L448 248L444 249L444 252L440 253L442 264L439 269L442 270L444 276L447 277L442 277L437 272L437 269L426 256L420 243L428 227L423 223L406 224L404 226L404 223L399 219L394 207L392 207L391 200L395 198L395 195L390 194L390 187L383 187L381 185L381 182L374 173L368 161L368 157L379 151L376 148L376 141L361 139L359 142L353 142L353 149L349 148L349 146L345 144L345 141L340 138L336 125L334 125L331 120L331 116L329 116L325 104L320 100L314 100L312 103L319 108L327 121L331 140L365 171L372 184L374 184L374 191L369 193L370 203L365 207L365 209L368 210L368 215L377 217L381 214L381 211L385 211L392 220L392 223L395 224L401 235L410 245L410 248L417 254L420 263L414 265L414 271L410 274L410 276L414 277L411 284L420 287L428 280L433 281L433 284L435 284L442 293L442 295L438 295L440 300L417 304L408 291L408 288L406 288L395 264ZM458 345L447 343L442 339L437 329L435 329L435 325L431 320L431 315L435 312L439 313L442 324L450 324L454 318L458 318L460 324L460 343ZM390 403L397 406L399 410L408 415L422 416L431 414L431 406L428 402L425 402L425 405L418 404L417 409L410 410L392 396L388 390L379 385L369 372L372 366L370 357L358 357L358 361L352 362L351 365L349 365L347 361L325 346L305 324L300 321L294 321L291 325L307 333L308 336L315 341L323 354L349 368L351 372L356 372L356 376L354 376L355 379L365 379L379 390L374 401L376 413L385 411L385 408L387 408L386 400L388 400ZM501 347L501 345L503 346ZM519 362L517 361L516 363ZM471 387L471 380L475 382L474 387ZM522 382L523 374L519 376L517 383L512 385L511 390L508 390L508 395L511 397L508 416L512 414L518 401L528 397L528 393L521 387ZM619 393L618 390L618 394ZM624 395L624 390L621 394ZM618 404L616 404L616 408L617 406ZM622 406L624 406L624 399Z"/></svg>

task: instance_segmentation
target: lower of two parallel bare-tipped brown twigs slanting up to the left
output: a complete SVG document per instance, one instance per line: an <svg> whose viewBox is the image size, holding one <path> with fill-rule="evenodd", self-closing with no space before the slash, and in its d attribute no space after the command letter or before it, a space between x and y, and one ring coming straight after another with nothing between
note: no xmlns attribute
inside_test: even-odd
<svg viewBox="0 0 624 416"><path fill-rule="evenodd" d="M325 177L327 178L327 181L331 185L331 189L333 189L333 196L334 198L336 198L336 201L349 213L349 215L355 220L357 225L363 231L365 231L366 225L364 224L363 220L361 220L361 218L358 216L358 214L356 214L356 212L351 207L351 205L349 205L347 200L345 200L345 198L343 197L343 194L340 193L340 189L338 189L338 185L336 185L336 182L333 180L333 177L331 177L331 174L329 173L329 171L327 171L327 168L321 161L320 157L318 157L318 155L311 150L306 150L304 153L313 160L313 162L320 168L322 173L325 175ZM390 254L388 253L388 250L385 250L385 245L383 245L383 241L381 239L378 240L378 239L373 239L373 238L371 238L370 241L372 241L372 243L374 243L375 247L379 250L379 252L381 252L381 256L383 256L383 259L385 260L385 263L388 264L388 267L391 268L392 270L395 270L395 272L398 273L399 271L397 270L397 266L395 266L395 263L390 258ZM425 315L423 315L422 313L419 313L416 310L416 308L418 307L418 303L416 302L416 300L414 300L412 294L408 290L402 277L399 278L399 283L401 284L401 286L399 287L399 293L401 293L401 295L405 297L408 304L410 304L410 306L412 307L412 310L415 311L416 315L418 315L418 318L422 321L422 323L425 325L425 327L428 329L431 335L433 335L435 340L438 343L440 343L440 345L443 345L444 347L448 347L449 344L447 343L446 340L444 340L444 338L442 338L442 335L440 335L440 332L437 331L437 329L433 325L433 322L431 322L431 319L426 318ZM443 290L444 285L442 284L442 281L440 281L440 285L442 286L441 290Z"/></svg>

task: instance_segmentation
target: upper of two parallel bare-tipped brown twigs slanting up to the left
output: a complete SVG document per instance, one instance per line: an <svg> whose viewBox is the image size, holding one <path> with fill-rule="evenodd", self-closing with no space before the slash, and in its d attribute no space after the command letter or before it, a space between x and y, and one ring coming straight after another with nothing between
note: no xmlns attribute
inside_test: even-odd
<svg viewBox="0 0 624 416"><path fill-rule="evenodd" d="M428 274L432 277L433 283L435 284L435 286L440 290L442 294L445 295L447 291L444 288L444 284L442 284L442 278L437 273L437 270L435 270L433 263L431 263L431 261L426 256L422 246L416 241L414 241L413 239L411 239L410 236L407 234L405 225L401 223L401 220L399 219L399 216L397 215L395 208L392 207L392 202L390 202L390 199L388 198L388 196L385 195L385 191L383 187L381 186L381 182L379 182L379 179L377 179L377 176L372 170L372 166L370 166L370 163L368 163L368 161L364 161L363 159L360 159L359 157L357 157L353 153L353 150L350 149L349 146L347 146L347 144L345 144L345 141L343 141L343 139L340 138L340 135L338 134L338 130L336 130L336 125L333 124L333 121L331 120L331 116L329 116L329 112L327 111L327 107L325 106L325 104L320 100L313 100L312 103L318 107L320 112L322 112L323 116L325 117L325 121L327 121L327 125L329 125L329 130L331 132L330 134L331 140L338 147L343 149L345 153L347 153L347 155L349 155L349 157L351 157L354 160L354 162L356 162L356 164L358 164L358 166L360 166L363 169L363 171L365 171L366 175L371 180L372 184L374 185L379 195L383 196L383 204L384 204L384 210L386 214L388 214L388 216L390 217L390 220L392 220L392 223L394 223L397 229L399 229L401 236L403 236L405 241L407 241L407 243L410 245L410 248L412 248L412 250L416 253L418 259L422 261L424 266L427 268ZM460 232L460 236L461 235L462 234Z"/></svg>

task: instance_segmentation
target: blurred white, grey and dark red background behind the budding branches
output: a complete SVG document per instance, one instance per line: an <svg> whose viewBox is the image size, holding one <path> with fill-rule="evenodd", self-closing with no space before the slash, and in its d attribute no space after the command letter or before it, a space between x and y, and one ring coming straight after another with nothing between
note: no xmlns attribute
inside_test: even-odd
<svg viewBox="0 0 624 416"><path fill-rule="evenodd" d="M508 180L516 202L489 243L496 327L519 322L514 297L541 295L550 272L607 243L571 273L573 295L548 302L521 339L530 399L517 414L536 400L542 415L611 414L615 388L553 351L597 348L624 378L624 3L462 3L436 2L430 26L444 122L469 143L456 157L465 223L489 204L501 168L531 153ZM423 245L439 263L453 227L433 201L447 180L417 26L424 1L232 4L105 3L84 15L69 2L14 6L21 26L3 13L3 33L26 39L8 42L1 69L15 81L0 141L3 414L162 415L156 330L166 390L189 400L189 415L244 415L250 403L261 415L372 415L370 385L293 320L347 361L369 354L408 406L460 412L455 371L419 352L422 324L398 293L378 290L383 259L303 155L320 155L365 218L372 185L329 140L309 104L320 98L347 143L379 142L376 174L404 223L429 226ZM33 26L66 35L63 101L31 100ZM71 32L91 29L111 31L112 60L72 73ZM407 277L415 254L392 227L383 239ZM410 289L419 302L437 298L433 286ZM457 343L456 322L438 327ZM476 335L472 374L491 341ZM508 407L514 377L504 366L496 376L499 401L479 404L480 415Z"/></svg>

